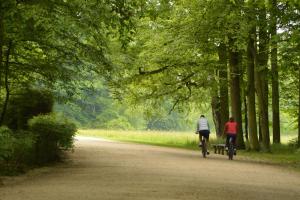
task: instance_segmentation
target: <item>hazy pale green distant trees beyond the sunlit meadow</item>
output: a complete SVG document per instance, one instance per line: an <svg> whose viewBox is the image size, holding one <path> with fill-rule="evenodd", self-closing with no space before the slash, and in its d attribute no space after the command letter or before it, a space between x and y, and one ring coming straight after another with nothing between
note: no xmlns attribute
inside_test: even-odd
<svg viewBox="0 0 300 200"><path fill-rule="evenodd" d="M170 101L153 106L133 105L127 99L116 99L105 81L94 82L94 90L85 90L73 103L56 104L55 111L83 128L118 130L187 130L194 128L194 113L173 111ZM195 112L196 113L196 112Z"/></svg>

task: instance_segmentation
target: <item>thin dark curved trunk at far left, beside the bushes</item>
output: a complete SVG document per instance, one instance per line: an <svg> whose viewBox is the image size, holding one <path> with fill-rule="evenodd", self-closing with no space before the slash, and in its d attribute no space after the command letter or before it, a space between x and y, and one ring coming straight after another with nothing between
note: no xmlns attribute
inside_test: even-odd
<svg viewBox="0 0 300 200"><path fill-rule="evenodd" d="M8 44L8 49L6 52L6 61L5 61L5 71L4 71L4 84L5 84L5 101L2 107L2 112L1 112L1 117L0 117L0 126L3 124L4 121L4 117L6 114L6 110L7 110L7 105L8 105L8 101L9 101L9 83L8 83L8 73L9 73L9 56L11 53L11 48L12 48L12 41L9 41Z"/></svg>

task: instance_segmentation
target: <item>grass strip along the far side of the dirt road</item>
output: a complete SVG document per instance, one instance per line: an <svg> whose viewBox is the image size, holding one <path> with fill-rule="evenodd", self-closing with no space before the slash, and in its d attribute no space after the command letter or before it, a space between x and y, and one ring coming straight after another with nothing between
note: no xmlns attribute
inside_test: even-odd
<svg viewBox="0 0 300 200"><path fill-rule="evenodd" d="M79 130L78 135L198 150L198 135L191 132ZM283 141L288 140L283 138ZM224 141L211 137L210 142L214 144ZM242 160L276 164L300 171L300 149L297 150L287 144L272 145L270 153L243 150L239 151L238 155Z"/></svg>

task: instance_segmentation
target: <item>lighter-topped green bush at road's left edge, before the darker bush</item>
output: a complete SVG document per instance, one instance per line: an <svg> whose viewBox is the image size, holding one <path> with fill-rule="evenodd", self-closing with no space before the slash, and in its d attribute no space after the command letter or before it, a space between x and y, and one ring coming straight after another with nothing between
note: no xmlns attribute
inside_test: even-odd
<svg viewBox="0 0 300 200"><path fill-rule="evenodd" d="M44 164L59 158L60 150L73 147L74 123L55 115L39 115L29 120L29 130L37 136L36 161Z"/></svg>

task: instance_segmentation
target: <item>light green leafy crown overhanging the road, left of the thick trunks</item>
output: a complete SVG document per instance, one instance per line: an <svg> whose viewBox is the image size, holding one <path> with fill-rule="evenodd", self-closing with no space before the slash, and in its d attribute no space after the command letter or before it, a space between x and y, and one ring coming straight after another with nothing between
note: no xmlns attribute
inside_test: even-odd
<svg viewBox="0 0 300 200"><path fill-rule="evenodd" d="M202 38L210 37L207 32L211 30L204 25L202 32L196 30L197 24L204 21L195 19L203 6L192 8L190 1L155 2L148 5L149 10L157 11L155 17L150 13L140 19L136 38L126 52L117 52L118 47L112 44L116 52L112 60L117 68L112 74L114 94L153 107L153 99L158 104L167 99L183 109L189 103L201 106L209 100L218 65L212 51L217 42ZM196 40L196 34L201 34L197 37L201 41Z"/></svg>

